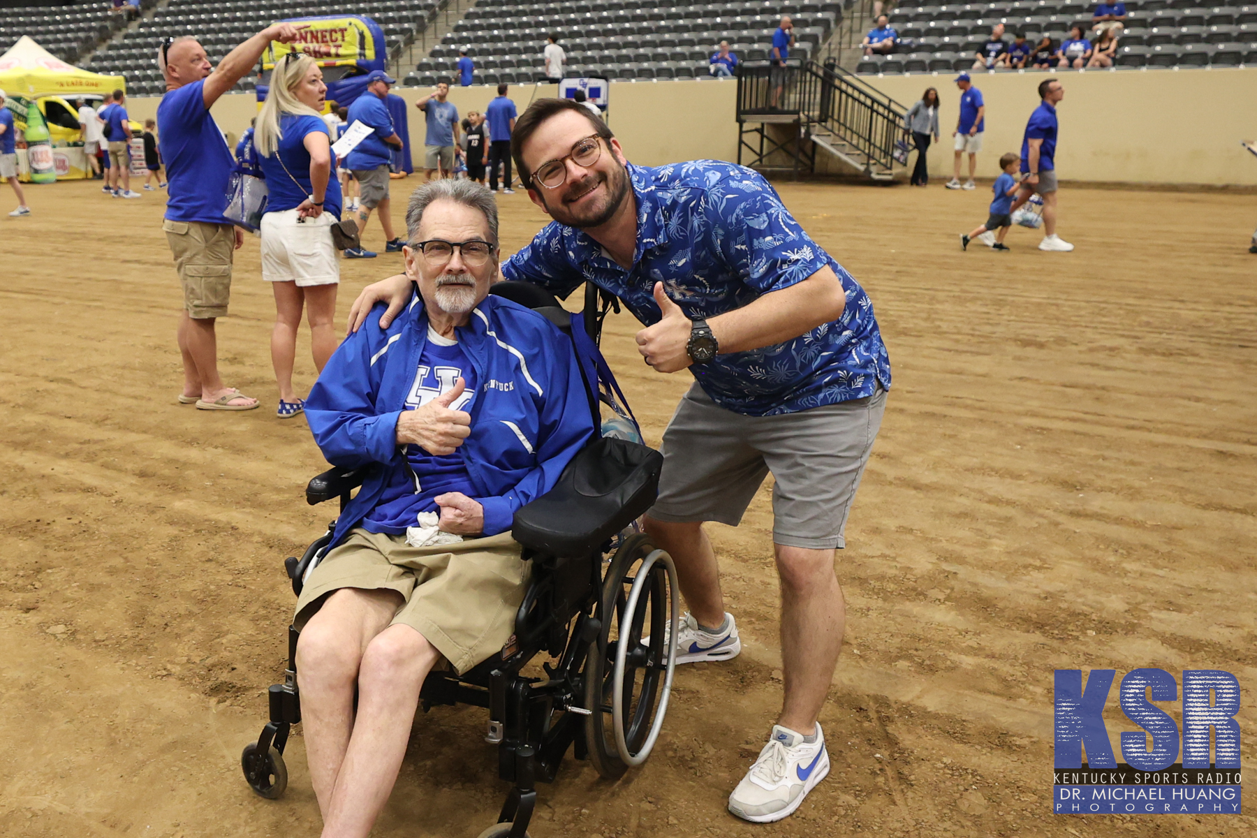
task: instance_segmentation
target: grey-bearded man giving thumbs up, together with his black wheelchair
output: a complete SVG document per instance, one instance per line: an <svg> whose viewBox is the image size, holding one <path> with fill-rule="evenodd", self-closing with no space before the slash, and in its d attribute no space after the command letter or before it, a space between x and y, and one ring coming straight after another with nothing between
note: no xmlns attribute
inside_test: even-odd
<svg viewBox="0 0 1257 838"><path fill-rule="evenodd" d="M649 637L675 627L675 580L632 519L654 500L660 457L598 438L597 320L532 288L513 295L533 308L509 288L490 294L488 190L427 183L406 224L409 313L349 335L307 401L337 466L308 496L339 496L342 511L288 562L288 681L243 764L255 792L278 797L302 721L323 834L367 835L420 701L479 704L515 784L483 834L522 837L534 778L553 779L568 745L618 776L657 735L675 650ZM549 678L522 676L541 651L559 658Z"/></svg>

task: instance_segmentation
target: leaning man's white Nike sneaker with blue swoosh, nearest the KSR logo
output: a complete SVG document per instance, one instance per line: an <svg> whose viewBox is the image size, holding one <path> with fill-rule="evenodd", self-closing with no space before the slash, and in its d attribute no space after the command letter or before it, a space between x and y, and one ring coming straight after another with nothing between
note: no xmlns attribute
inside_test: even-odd
<svg viewBox="0 0 1257 838"><path fill-rule="evenodd" d="M830 773L825 734L816 726L816 741L773 725L772 737L755 764L729 795L729 812L752 823L772 823L788 817L807 793Z"/></svg>

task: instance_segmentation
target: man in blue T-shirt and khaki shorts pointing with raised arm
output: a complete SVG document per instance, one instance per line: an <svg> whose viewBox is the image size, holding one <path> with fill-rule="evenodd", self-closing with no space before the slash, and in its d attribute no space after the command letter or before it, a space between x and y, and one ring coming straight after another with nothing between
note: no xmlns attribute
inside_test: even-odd
<svg viewBox="0 0 1257 838"><path fill-rule="evenodd" d="M210 108L253 70L272 41L289 44L300 29L304 26L268 26L228 53L217 69L190 35L167 38L157 50L157 67L166 79L166 95L157 106L158 147L170 178L162 229L184 285L178 324L184 391L178 401L195 402L200 410L258 407L256 398L228 387L219 377L214 323L228 314L233 251L244 244L244 231L222 217L235 163Z"/></svg>

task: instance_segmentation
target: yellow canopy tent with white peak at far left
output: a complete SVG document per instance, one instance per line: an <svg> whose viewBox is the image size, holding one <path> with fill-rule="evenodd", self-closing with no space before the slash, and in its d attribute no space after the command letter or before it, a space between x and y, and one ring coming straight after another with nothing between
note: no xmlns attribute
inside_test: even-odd
<svg viewBox="0 0 1257 838"><path fill-rule="evenodd" d="M19 38L8 53L0 55L0 90L25 102L36 102L44 114L53 134L53 162L58 180L87 177L83 150L64 147L64 143L82 142L77 117L70 116L74 113L70 101L80 94L106 95L118 88L127 89L126 79L121 75L102 75L67 64L28 35ZM50 111L57 113L49 113ZM25 129L25 122L18 122L18 128ZM67 124L60 124L62 122Z"/></svg>

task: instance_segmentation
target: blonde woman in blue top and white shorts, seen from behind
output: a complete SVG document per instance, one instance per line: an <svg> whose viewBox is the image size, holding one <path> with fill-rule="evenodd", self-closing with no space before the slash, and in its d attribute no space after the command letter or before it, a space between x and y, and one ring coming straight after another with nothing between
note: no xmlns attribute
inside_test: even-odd
<svg viewBox="0 0 1257 838"><path fill-rule="evenodd" d="M254 131L270 191L261 216L261 278L275 291L270 362L279 386L275 415L280 418L305 408L305 400L293 391L303 307L319 372L337 346L332 320L341 265L329 227L341 216L341 183L333 176L336 161L322 118L326 93L318 64L303 53L289 53L275 64Z"/></svg>

